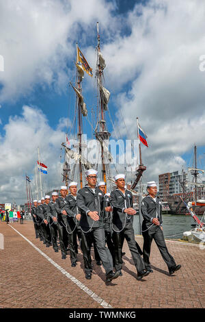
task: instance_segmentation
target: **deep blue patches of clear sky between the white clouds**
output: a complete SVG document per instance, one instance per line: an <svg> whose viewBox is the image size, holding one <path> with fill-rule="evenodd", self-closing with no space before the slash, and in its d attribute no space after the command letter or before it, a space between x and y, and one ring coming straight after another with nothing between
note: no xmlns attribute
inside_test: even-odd
<svg viewBox="0 0 205 322"><path fill-rule="evenodd" d="M107 2L111 2L114 5L115 10L113 11L113 15L126 15L127 12L130 10L133 10L136 3L146 3L147 1L133 1L133 0L118 0L113 1L109 0ZM96 26L93 26L93 32L95 32ZM86 35L86 38L83 38L83 43L81 44L81 32L83 32L83 28L80 26L80 32L76 34L76 40L72 42L73 48L76 46L76 42L79 42L79 47L81 48L81 45L83 47L89 47L92 46L93 49L97 45L97 38L91 38L89 35ZM102 29L103 32L103 29ZM121 30L122 37L126 34L128 34L128 30L126 28L123 28ZM105 45L107 42L106 38L103 37L103 34L101 34L101 42ZM55 88L53 86L36 86L32 88L32 92L29 93L29 95L22 95L18 97L18 99L12 99L12 101L5 101L1 103L2 110L1 110L1 122L2 124L8 123L8 119L10 116L14 115L20 115L22 113L22 106L28 105L28 106L36 106L40 108L46 116L49 118L49 124L51 127L56 127L58 124L58 118L61 117L67 117L68 116L68 104L70 102L70 99L68 97L68 92L72 92L72 90L69 91L68 86L69 82L74 80L75 70L74 70L74 59L75 57L72 57L72 60L67 59L66 65L69 69L72 69L70 73L67 75L66 84L64 84L64 87L61 88L61 92L56 92ZM92 66L94 69L95 66ZM85 81L87 81L87 75L85 76ZM126 90L126 87L125 87ZM93 91L88 91L87 94L85 93L86 101L88 104L91 105L94 103L92 100L92 94L94 94ZM87 104L87 105L88 105ZM59 108L60 107L60 108ZM55 115L55 110L57 109L57 117ZM110 105L110 110L112 111L112 106ZM109 118L108 118L109 122ZM109 124L110 126L110 124ZM0 128L0 133L3 134L4 130L3 127Z"/></svg>

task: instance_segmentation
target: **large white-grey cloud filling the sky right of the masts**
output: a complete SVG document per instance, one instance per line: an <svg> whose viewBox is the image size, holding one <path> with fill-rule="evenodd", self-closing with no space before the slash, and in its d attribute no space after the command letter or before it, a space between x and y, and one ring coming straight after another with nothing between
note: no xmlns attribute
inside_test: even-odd
<svg viewBox="0 0 205 322"><path fill-rule="evenodd" d="M194 143L204 145L205 73L199 69L205 52L204 12L199 0L135 5L124 18L130 34L102 47L107 88L111 95L118 93L113 97L115 125L121 136L136 138L139 117L148 135L149 148L142 151L150 179L180 171L180 156Z"/></svg>

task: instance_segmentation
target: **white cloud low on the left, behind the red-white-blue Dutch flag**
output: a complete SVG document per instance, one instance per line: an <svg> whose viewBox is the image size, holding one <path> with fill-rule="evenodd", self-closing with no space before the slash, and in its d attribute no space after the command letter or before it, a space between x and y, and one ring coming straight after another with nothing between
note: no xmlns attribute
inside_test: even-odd
<svg viewBox="0 0 205 322"><path fill-rule="evenodd" d="M32 177L34 188L38 147L42 162L49 166L49 174L43 176L44 193L50 187L61 184L60 148L65 140L64 132L49 126L41 110L23 106L21 116L10 117L5 125L5 136L0 141L0 192L1 202L26 201L25 173ZM36 196L35 196L36 197Z"/></svg>

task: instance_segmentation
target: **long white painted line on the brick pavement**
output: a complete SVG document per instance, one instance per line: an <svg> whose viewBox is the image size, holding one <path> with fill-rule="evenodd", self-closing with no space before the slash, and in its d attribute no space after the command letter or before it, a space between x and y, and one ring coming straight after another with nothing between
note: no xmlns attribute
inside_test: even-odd
<svg viewBox="0 0 205 322"><path fill-rule="evenodd" d="M12 227L11 225L9 225L9 226ZM15 230L14 227L12 227L12 229ZM87 288L87 286L85 286L83 283L81 283L79 280L77 280L77 278L72 276L65 269L63 269L61 266L59 266L59 264L54 262L54 260L52 260L49 256L47 256L43 251L41 251L33 243L31 243L31 241L29 239L27 239L25 236L20 234L20 232L18 232L18 230L15 230L15 232L17 232L21 237L23 237L33 248L36 249L36 251L38 251L42 256L44 256L44 258L46 258L46 260L49 260L49 262L51 264L53 264L53 266L56 267L59 271L61 271L62 274L64 274L66 277L68 277L69 280L71 280L72 282L74 282L74 284L76 284L79 288L81 288L81 290L83 290L83 292L85 292L87 295L92 297L92 299L94 299L94 301L98 302L98 304L100 304L100 306L102 306L103 308L112 308L112 306L110 304L108 304L106 301L104 301L104 299L102 299L101 297L98 297L98 295L96 295L96 293L94 293L92 290L90 290L90 288Z"/></svg>

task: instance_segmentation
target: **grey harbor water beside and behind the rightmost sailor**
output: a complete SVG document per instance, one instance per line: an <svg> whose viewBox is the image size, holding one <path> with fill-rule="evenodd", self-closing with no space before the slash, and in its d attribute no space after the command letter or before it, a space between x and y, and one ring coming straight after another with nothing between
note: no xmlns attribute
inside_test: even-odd
<svg viewBox="0 0 205 322"><path fill-rule="evenodd" d="M183 232L191 230L195 223L191 215L186 214L163 214L163 233L165 238L182 238ZM202 219L202 216L197 216ZM142 221L142 219L141 219ZM139 234L139 215L134 217L133 227L135 234Z"/></svg>

